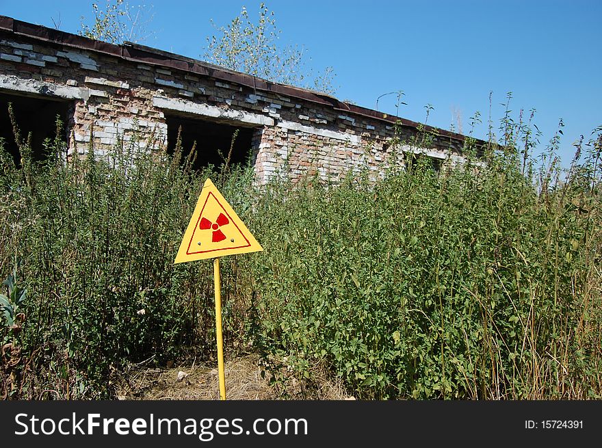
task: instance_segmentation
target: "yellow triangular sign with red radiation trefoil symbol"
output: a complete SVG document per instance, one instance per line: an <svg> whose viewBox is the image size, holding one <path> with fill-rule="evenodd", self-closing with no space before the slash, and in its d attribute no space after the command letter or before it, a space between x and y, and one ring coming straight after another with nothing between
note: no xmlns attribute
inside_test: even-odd
<svg viewBox="0 0 602 448"><path fill-rule="evenodd" d="M263 250L224 196L205 181L174 263Z"/></svg>

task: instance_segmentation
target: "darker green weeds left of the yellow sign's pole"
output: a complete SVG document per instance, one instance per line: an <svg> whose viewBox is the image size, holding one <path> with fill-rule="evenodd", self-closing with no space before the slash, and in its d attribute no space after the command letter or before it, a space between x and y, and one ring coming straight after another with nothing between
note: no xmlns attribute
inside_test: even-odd
<svg viewBox="0 0 602 448"><path fill-rule="evenodd" d="M106 398L131 363L213 356L211 263L173 261L203 181L218 173L191 173L179 153L150 155L135 139L110 159L68 163L58 139L44 163L21 143L23 168L2 157L0 272L16 266L29 291L18 344L28 370L7 394ZM218 187L250 208L248 170ZM222 263L222 278L227 340L237 331L235 260Z"/></svg>

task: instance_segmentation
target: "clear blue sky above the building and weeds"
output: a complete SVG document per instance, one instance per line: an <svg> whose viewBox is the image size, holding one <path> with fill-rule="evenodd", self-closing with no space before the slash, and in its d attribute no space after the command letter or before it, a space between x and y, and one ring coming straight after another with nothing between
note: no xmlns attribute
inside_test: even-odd
<svg viewBox="0 0 602 448"><path fill-rule="evenodd" d="M104 0L97 0L104 3ZM0 0L0 14L77 33L81 16L92 17L92 1ZM246 5L259 1L130 0L153 5L148 25L155 37L143 44L201 58L210 19L226 25ZM565 166L573 142L602 125L602 0L572 1L266 1L276 13L283 44L302 44L311 67L335 69L337 97L376 109L382 94L402 90L399 114L468 133L470 117L483 123L475 137L486 138L489 92L495 129L501 103L512 92L518 120L536 109L543 135L539 150L564 121L560 156ZM378 100L378 110L395 114L395 95Z"/></svg>

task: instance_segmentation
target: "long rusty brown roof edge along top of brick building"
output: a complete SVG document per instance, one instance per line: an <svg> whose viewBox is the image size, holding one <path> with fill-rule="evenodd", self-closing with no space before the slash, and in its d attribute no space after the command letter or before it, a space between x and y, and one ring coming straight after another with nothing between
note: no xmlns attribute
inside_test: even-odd
<svg viewBox="0 0 602 448"><path fill-rule="evenodd" d="M19 21L12 17L2 15L0 15L0 29L11 31L20 36L27 36L29 38L36 38L55 44L63 44L68 47L117 56L131 62L165 66L169 68L175 68L176 70L195 73L197 75L214 77L222 81L229 81L244 85L248 88L252 88L254 91L261 90L264 92L272 92L284 96L292 96L294 98L332 107L332 109L335 111L345 111L346 113L363 116L365 118L371 118L373 120L384 120L393 124L400 122L403 126L413 128L417 128L421 125L418 122L414 122L406 118L391 116L367 107L345 103L334 96L323 92L315 92L313 90L295 87L293 85L274 83L254 75L248 75L246 73L216 66L214 64L210 64L209 62L195 60L192 57L170 53L168 51L155 49L153 47L146 47L145 45L135 44L133 42L124 42L122 45L109 44L108 42L103 42L101 40L86 38L84 36L68 33L66 31L44 27L43 25L34 25L33 23ZM423 126L427 131L436 131L436 133L439 135L445 135L461 142L463 142L467 137L466 135L445 131L444 129L439 129L429 125ZM480 144L486 144L484 140L475 140Z"/></svg>

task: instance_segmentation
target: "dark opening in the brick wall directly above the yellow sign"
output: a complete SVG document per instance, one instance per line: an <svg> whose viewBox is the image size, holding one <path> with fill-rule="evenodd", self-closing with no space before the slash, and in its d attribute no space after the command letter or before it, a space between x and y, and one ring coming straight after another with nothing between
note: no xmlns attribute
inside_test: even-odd
<svg viewBox="0 0 602 448"><path fill-rule="evenodd" d="M176 148L181 129L182 157L185 159L196 142L193 170L221 166L229 158L229 165L246 163L252 147L253 128L240 127L189 116L165 115L167 123L168 153Z"/></svg>

